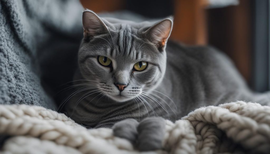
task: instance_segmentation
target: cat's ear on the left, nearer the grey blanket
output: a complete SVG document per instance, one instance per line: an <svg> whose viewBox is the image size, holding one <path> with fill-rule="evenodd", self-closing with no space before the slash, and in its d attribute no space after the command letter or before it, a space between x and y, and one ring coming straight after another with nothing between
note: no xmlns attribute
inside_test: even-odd
<svg viewBox="0 0 270 154"><path fill-rule="evenodd" d="M108 32L105 23L91 10L83 12L83 36L85 39L91 39L95 35Z"/></svg>

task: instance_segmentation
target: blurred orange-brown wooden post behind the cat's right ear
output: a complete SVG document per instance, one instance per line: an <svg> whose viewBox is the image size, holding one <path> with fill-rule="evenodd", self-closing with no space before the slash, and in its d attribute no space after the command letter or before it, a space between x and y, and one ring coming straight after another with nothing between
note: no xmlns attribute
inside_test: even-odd
<svg viewBox="0 0 270 154"><path fill-rule="evenodd" d="M206 45L207 2L204 0L175 0L174 2L174 26L171 39L190 45Z"/></svg>

